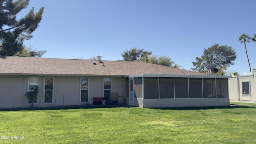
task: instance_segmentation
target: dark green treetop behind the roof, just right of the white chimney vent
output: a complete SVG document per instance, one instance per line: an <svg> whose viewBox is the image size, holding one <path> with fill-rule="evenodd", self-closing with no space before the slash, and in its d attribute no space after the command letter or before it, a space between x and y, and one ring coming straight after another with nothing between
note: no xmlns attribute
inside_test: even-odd
<svg viewBox="0 0 256 144"><path fill-rule="evenodd" d="M149 51L143 51L143 49L137 49L137 48L130 48L130 50L124 51L121 53L122 57L124 58L124 61L140 61L140 58L143 59L146 56L148 57L151 55L152 52Z"/></svg>

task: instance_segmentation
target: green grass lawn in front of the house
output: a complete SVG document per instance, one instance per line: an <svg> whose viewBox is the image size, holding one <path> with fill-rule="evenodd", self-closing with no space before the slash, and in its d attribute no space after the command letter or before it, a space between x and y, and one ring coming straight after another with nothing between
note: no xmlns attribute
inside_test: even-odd
<svg viewBox="0 0 256 144"><path fill-rule="evenodd" d="M0 111L0 143L255 144L256 104L232 104Z"/></svg>

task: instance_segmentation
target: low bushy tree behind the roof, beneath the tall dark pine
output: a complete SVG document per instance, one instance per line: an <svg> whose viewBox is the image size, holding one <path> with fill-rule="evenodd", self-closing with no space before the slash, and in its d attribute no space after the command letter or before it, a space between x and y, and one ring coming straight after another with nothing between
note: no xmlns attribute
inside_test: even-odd
<svg viewBox="0 0 256 144"><path fill-rule="evenodd" d="M23 50L20 52L16 52L14 55L15 56L26 56L26 57L41 57L46 53L46 50L38 50L33 49L32 47L25 47Z"/></svg>

